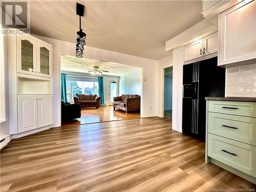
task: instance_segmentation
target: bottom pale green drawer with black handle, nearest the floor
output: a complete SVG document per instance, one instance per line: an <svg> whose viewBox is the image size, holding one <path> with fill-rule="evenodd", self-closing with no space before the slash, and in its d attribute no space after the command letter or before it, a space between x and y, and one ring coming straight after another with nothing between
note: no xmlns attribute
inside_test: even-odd
<svg viewBox="0 0 256 192"><path fill-rule="evenodd" d="M256 147L208 134L207 154L222 163L256 177Z"/></svg>

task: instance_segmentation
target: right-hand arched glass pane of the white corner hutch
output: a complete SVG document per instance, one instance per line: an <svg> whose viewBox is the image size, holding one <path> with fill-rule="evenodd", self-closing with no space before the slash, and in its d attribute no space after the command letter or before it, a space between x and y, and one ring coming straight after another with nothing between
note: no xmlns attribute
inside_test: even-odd
<svg viewBox="0 0 256 192"><path fill-rule="evenodd" d="M50 75L50 51L45 47L40 47L39 49L39 65L40 65L40 74Z"/></svg>

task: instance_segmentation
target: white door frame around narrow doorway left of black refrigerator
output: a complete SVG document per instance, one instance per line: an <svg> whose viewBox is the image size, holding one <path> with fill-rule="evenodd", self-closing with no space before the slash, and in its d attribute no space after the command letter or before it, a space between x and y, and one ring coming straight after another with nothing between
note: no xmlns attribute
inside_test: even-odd
<svg viewBox="0 0 256 192"><path fill-rule="evenodd" d="M164 66L161 68L161 88L160 88L160 117L164 117L164 69L166 68L173 68L174 71L174 66ZM173 73L173 79L174 79L174 73ZM174 80L173 80L174 82ZM173 92L174 93L174 86L172 86ZM173 97L173 94L172 94ZM172 106L174 105L174 99L172 99ZM172 119L173 119L173 115L172 114Z"/></svg>

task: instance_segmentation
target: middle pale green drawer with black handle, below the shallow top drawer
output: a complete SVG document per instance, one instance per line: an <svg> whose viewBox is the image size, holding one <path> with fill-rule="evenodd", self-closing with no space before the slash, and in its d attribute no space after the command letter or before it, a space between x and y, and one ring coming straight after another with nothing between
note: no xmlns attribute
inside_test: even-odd
<svg viewBox="0 0 256 192"><path fill-rule="evenodd" d="M256 118L209 112L208 133L256 145Z"/></svg>

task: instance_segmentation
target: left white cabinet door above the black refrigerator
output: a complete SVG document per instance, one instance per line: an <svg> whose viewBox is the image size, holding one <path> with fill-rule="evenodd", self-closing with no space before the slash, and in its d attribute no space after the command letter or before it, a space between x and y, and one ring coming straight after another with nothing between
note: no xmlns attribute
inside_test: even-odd
<svg viewBox="0 0 256 192"><path fill-rule="evenodd" d="M203 39L191 42L184 47L184 61L195 59L203 55Z"/></svg>

